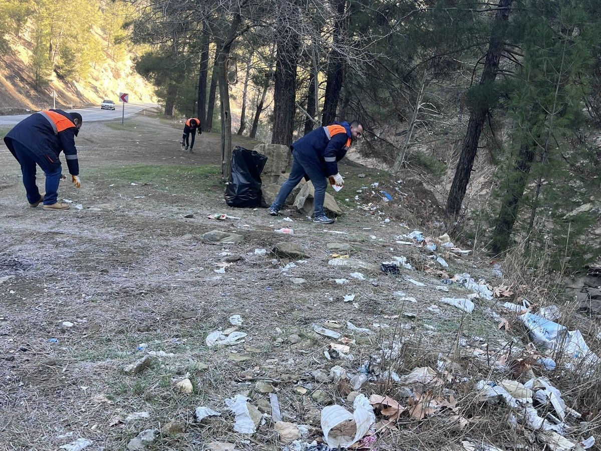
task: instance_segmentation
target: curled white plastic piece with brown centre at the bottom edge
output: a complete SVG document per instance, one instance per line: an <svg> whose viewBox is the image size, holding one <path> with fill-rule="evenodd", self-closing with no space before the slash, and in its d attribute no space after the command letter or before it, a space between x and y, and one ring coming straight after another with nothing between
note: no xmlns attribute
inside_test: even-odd
<svg viewBox="0 0 601 451"><path fill-rule="evenodd" d="M353 402L353 413L340 405L331 405L322 410L323 440L331 448L348 448L358 442L376 422L369 400L359 394Z"/></svg>

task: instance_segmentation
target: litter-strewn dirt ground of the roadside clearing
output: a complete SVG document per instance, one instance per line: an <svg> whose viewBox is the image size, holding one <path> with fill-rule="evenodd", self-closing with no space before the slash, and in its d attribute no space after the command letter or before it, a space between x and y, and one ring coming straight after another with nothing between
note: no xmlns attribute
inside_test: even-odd
<svg viewBox="0 0 601 451"><path fill-rule="evenodd" d="M416 366L436 368L442 353L463 356L464 369L477 367L474 374L490 375L495 373L490 361L480 367L466 357L473 343L501 349L519 342L484 313L494 301L474 299L477 308L469 315L438 302L471 292L457 284L449 293L436 290L441 268L418 245L397 244L418 224L400 217L401 203L393 215L371 187L374 182L394 187L385 174L341 165L348 183L335 197L345 215L329 226L292 210L272 218L265 209L230 209L217 166L218 133L197 137L190 154L179 149L180 129L147 115L124 127L84 123L76 141L82 188L61 183L59 199L72 201L72 208L61 212L27 206L16 161L0 147L0 278L14 276L0 284L0 449L57 450L84 438L91 441L87 450L124 450L151 428L161 432L149 450L208 449L216 440L235 443L239 450L281 449L270 417L256 434L235 432L224 399L243 393L269 413L269 394L257 386L267 382L284 421L307 425L304 441L311 442L321 437L323 405L352 405L348 387L316 381L310 375L314 370L329 374L340 365L350 377L367 361L403 375ZM252 146L245 138L234 144ZM190 213L192 218L184 217ZM207 218L210 213L240 219L216 221ZM281 227L291 227L294 235L276 234ZM239 233L243 241L222 245L201 238L214 229ZM421 230L426 236L435 233ZM307 257L296 266L276 258L269 251L280 241L300 245ZM393 275L330 266L333 251L327 244L333 242L349 244L352 258L376 265L406 256L416 271ZM229 254L240 260L224 274L215 272ZM486 258L444 257L451 275L469 272L492 279ZM350 277L353 271L363 272L365 280ZM335 281L343 278L346 284ZM345 302L345 295L355 298ZM428 310L432 304L436 308ZM238 329L248 334L245 341L207 346L207 334L231 327L233 314L243 319ZM371 332L351 331L347 321ZM335 340L314 333L314 324L348 337L343 342L349 354L326 358ZM401 352L382 360L382 349L394 343L400 343ZM124 365L145 355L151 358L148 369L123 373ZM174 384L186 377L192 393L178 393ZM452 387L457 398L473 388L473 379L464 382ZM327 399L311 397L318 388ZM361 391L406 399L400 388L381 379ZM224 415L195 423L199 406ZM472 408L462 413L467 416ZM148 416L127 420L139 412ZM377 449L417 449L419 441L407 443L424 434L430 441L419 449L441 449L470 433L445 426L433 434L442 423L427 424L404 419L392 433L376 434ZM517 440L514 432L503 434Z"/></svg>

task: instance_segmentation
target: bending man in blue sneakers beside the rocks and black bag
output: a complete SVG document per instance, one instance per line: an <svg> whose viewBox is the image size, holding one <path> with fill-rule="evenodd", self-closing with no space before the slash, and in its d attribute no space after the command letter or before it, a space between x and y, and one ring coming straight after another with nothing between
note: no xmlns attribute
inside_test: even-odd
<svg viewBox="0 0 601 451"><path fill-rule="evenodd" d="M300 140L294 141L290 146L293 158L290 177L282 183L278 195L269 207L269 214L272 216L279 214L294 186L298 185L304 177L311 180L315 188L313 222L332 224L334 219L328 218L323 211L323 200L328 186L326 177L331 177L337 186L344 185L344 179L338 172L337 162L344 158L352 141L362 134L363 125L359 121L352 121L350 125L348 122L343 122L319 127Z"/></svg>

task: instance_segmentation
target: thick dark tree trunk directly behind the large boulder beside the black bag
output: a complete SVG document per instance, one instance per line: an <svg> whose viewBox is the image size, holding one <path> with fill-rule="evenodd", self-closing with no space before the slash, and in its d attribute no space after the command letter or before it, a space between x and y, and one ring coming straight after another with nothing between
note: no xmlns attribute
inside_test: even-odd
<svg viewBox="0 0 601 451"><path fill-rule="evenodd" d="M278 55L275 63L275 87L273 90L272 144L292 144L294 128L294 94L296 94L296 64L299 52L299 11L292 2L281 11L278 25Z"/></svg>

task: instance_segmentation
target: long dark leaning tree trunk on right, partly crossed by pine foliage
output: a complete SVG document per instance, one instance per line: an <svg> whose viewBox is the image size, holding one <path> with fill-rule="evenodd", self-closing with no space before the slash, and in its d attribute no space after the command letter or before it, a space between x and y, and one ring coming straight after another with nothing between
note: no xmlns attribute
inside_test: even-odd
<svg viewBox="0 0 601 451"><path fill-rule="evenodd" d="M496 73L499 70L499 61L501 60L501 52L505 45L505 30L510 14L510 7L513 0L499 0L496 11L495 20L490 33L489 48L484 61L484 70L480 78L480 86L491 85L496 79ZM457 218L461 210L461 204L465 197L465 191L468 188L469 178L471 177L472 167L474 167L474 159L478 152L478 141L480 141L480 133L482 126L489 109L487 106L475 105L469 115L468 130L463 138L463 147L453 185L447 198L447 214L451 218Z"/></svg>

